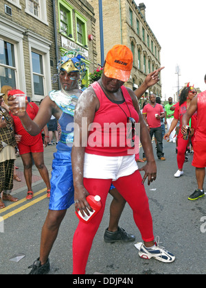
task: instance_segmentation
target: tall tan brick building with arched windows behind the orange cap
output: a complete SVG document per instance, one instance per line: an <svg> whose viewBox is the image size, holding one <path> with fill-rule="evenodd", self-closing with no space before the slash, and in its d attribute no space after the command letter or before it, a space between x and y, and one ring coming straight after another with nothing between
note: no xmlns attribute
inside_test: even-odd
<svg viewBox="0 0 206 288"><path fill-rule="evenodd" d="M88 1L95 10L98 63L101 63L99 1ZM133 51L133 69L126 86L135 90L148 73L161 66L161 46L146 22L146 6L144 3L137 6L133 0L102 0L102 14L104 56L116 44L126 45ZM150 91L161 96L161 84L151 87Z"/></svg>

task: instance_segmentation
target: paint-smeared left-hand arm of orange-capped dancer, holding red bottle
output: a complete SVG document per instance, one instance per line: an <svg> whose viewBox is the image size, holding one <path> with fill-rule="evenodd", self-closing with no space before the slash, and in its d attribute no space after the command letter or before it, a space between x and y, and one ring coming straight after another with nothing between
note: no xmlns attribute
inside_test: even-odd
<svg viewBox="0 0 206 288"><path fill-rule="evenodd" d="M80 96L78 104L76 104L74 114L74 141L71 150L71 164L73 171L73 187L74 187L74 200L75 209L78 209L84 215L89 213L83 210L87 207L92 211L89 206L86 197L89 195L88 191L84 188L83 177L84 177L84 152L87 146L89 125L93 123L95 112L98 109L99 100L96 97L92 87L87 88L84 93ZM83 117L87 119L87 124L82 121ZM84 127L82 126L84 122ZM87 127L85 127L87 125Z"/></svg>

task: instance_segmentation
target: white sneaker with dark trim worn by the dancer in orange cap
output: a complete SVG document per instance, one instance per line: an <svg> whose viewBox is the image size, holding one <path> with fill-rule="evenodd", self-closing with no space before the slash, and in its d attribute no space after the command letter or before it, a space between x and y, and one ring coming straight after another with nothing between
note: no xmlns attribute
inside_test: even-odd
<svg viewBox="0 0 206 288"><path fill-rule="evenodd" d="M143 243L137 243L141 245L135 244L135 247L139 250L139 256L144 259L151 259L152 257L164 262L164 263L172 263L175 260L175 256L165 250L165 248L159 246L159 237L156 237L158 242L155 242L155 247L146 248Z"/></svg>

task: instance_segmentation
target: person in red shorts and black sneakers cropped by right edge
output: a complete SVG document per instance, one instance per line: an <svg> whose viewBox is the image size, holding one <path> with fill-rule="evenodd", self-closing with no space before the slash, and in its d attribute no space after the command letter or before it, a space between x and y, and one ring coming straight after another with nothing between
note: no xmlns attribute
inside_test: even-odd
<svg viewBox="0 0 206 288"><path fill-rule="evenodd" d="M206 75L205 75L206 84ZM198 188L188 197L188 200L197 200L199 197L205 196L203 184L205 180L205 167L206 167L206 91L196 95L191 101L190 107L182 119L182 134L186 133L185 125L187 125L190 117L197 113L196 132L194 136L194 158L192 166L196 167L196 181Z"/></svg>

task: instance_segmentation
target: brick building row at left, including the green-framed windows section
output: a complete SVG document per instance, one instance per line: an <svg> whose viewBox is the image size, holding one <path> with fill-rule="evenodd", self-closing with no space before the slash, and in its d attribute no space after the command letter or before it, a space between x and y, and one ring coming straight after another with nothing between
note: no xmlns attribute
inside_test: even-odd
<svg viewBox="0 0 206 288"><path fill-rule="evenodd" d="M95 19L86 0L1 0L0 88L16 87L40 101L58 88L52 76L66 49L82 51L93 70Z"/></svg>

